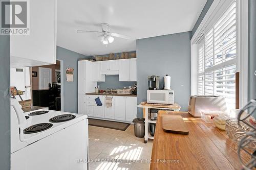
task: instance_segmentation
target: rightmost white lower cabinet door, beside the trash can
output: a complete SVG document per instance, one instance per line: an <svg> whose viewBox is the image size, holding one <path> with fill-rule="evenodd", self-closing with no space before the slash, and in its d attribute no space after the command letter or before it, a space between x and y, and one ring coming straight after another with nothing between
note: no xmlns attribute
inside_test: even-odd
<svg viewBox="0 0 256 170"><path fill-rule="evenodd" d="M125 97L125 120L133 122L133 119L137 116L137 98L136 97Z"/></svg>

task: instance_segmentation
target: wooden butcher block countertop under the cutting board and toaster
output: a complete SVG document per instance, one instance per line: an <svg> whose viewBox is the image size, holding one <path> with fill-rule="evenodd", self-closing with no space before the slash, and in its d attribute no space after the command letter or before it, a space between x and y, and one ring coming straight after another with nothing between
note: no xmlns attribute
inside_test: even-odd
<svg viewBox="0 0 256 170"><path fill-rule="evenodd" d="M163 114L183 117L188 135L164 132ZM243 160L249 155L242 153ZM241 169L237 144L225 131L187 112L159 111L153 142L151 170L157 169Z"/></svg>

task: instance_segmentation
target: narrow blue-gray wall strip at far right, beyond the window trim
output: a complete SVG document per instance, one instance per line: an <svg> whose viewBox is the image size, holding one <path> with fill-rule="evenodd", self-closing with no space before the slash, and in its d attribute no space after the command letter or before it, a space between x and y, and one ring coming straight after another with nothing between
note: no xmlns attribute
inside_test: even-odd
<svg viewBox="0 0 256 170"><path fill-rule="evenodd" d="M256 99L256 1L249 0L248 100ZM256 114L255 114L256 116Z"/></svg>

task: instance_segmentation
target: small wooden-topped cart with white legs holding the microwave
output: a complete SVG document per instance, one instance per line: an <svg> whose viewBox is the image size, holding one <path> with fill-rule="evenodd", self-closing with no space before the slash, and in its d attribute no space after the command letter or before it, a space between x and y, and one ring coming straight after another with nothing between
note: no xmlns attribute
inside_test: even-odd
<svg viewBox="0 0 256 170"><path fill-rule="evenodd" d="M174 105L165 105L165 104L152 104L152 103L146 103L141 102L138 106L138 108L143 108L143 118L145 118L145 136L144 136L144 143L147 142L149 139L154 139L154 136L152 136L149 132L148 124L153 123L156 124L157 120L151 120L150 115L148 114L150 109L161 109L161 110L168 110L168 111L180 111L180 105L178 103L175 103Z"/></svg>

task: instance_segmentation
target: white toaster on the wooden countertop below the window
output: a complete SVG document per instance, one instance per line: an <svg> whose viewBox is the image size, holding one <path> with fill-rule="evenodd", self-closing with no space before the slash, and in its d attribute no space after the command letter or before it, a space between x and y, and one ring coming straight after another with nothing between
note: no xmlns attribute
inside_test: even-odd
<svg viewBox="0 0 256 170"><path fill-rule="evenodd" d="M217 95L191 95L188 103L188 113L201 117L201 111L227 111L224 97Z"/></svg>

